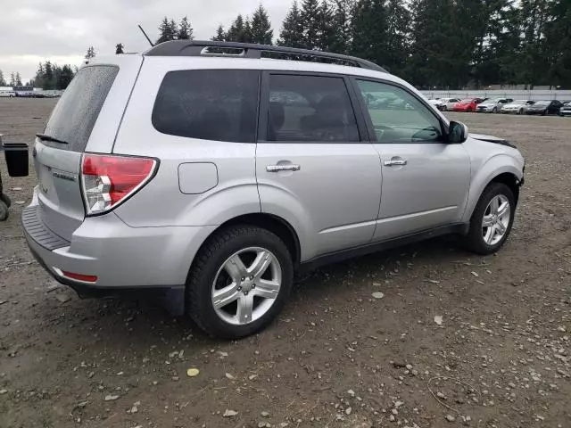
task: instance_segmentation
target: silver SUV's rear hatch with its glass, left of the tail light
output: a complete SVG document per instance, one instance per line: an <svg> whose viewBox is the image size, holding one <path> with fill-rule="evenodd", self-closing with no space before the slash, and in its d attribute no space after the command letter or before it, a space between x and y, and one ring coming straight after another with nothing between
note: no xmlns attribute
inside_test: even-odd
<svg viewBox="0 0 571 428"><path fill-rule="evenodd" d="M85 218L79 171L84 152L112 152L120 119L143 59L80 69L37 135L34 163L39 218L66 241Z"/></svg>

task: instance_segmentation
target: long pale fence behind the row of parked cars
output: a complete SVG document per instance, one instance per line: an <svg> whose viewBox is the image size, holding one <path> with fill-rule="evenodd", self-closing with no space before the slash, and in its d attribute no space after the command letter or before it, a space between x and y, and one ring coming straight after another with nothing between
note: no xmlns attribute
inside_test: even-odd
<svg viewBox="0 0 571 428"><path fill-rule="evenodd" d="M571 101L571 91L549 89L508 90L497 89L489 91L421 91L426 98L512 98L514 100L559 100Z"/></svg>

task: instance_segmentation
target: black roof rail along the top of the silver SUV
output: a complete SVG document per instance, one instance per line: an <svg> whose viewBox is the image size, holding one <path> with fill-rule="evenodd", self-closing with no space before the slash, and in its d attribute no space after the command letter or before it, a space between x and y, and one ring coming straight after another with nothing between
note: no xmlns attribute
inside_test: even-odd
<svg viewBox="0 0 571 428"><path fill-rule="evenodd" d="M265 55L262 55L266 53ZM214 42L207 40L171 40L155 45L145 56L237 56L260 59L262 57L294 61L332 62L387 73L374 62L341 53L310 51L294 47L256 45L252 43Z"/></svg>

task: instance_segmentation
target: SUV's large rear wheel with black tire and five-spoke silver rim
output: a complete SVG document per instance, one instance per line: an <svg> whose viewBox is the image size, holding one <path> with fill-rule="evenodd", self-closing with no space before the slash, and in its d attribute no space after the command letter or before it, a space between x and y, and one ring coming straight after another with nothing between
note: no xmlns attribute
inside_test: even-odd
<svg viewBox="0 0 571 428"><path fill-rule="evenodd" d="M204 243L186 283L190 316L204 332L238 339L277 317L294 282L285 243L266 229L232 226Z"/></svg>

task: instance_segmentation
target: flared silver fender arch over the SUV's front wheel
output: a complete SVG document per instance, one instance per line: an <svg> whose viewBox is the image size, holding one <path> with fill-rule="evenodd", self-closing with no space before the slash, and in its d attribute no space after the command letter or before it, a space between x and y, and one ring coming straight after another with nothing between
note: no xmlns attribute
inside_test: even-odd
<svg viewBox="0 0 571 428"><path fill-rule="evenodd" d="M470 221L486 186L492 182L493 178L505 173L512 174L517 177L517 180L521 180L524 177L523 164L520 164L515 157L509 154L499 153L489 158L476 170L470 182L468 204L462 218L463 222L468 223Z"/></svg>

